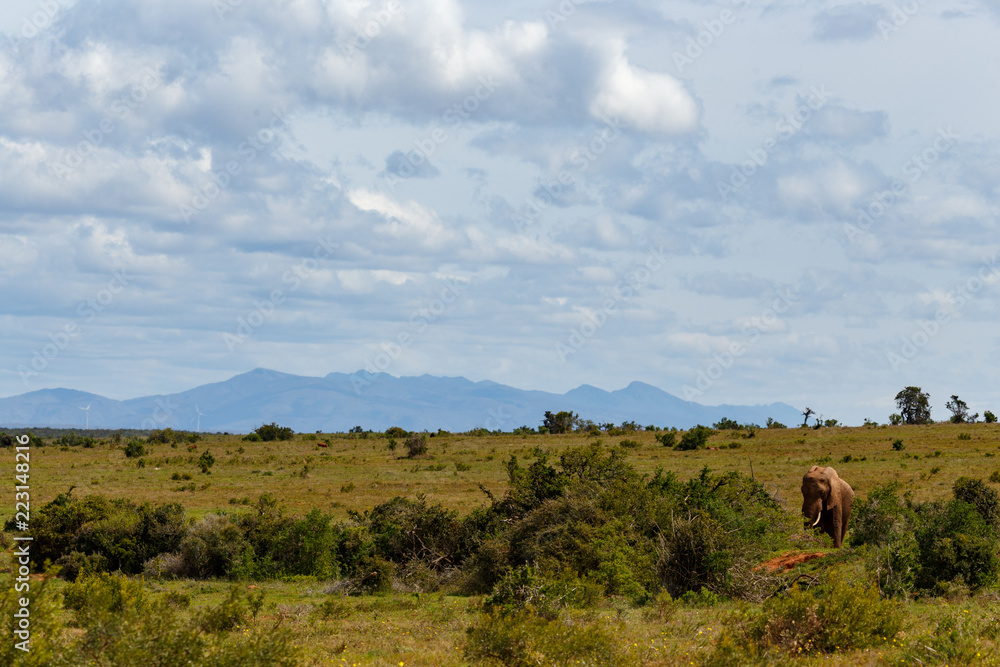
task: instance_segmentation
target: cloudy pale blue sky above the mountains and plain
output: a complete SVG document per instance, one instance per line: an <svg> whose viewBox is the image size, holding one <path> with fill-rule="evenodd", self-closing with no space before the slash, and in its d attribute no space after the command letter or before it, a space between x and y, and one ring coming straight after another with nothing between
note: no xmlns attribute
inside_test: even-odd
<svg viewBox="0 0 1000 667"><path fill-rule="evenodd" d="M996 0L4 9L0 396L1000 410Z"/></svg>

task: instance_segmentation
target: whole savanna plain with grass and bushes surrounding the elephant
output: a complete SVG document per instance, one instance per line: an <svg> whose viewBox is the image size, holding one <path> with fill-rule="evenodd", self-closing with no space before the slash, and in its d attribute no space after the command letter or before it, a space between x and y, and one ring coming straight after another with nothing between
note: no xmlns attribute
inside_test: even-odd
<svg viewBox="0 0 1000 667"><path fill-rule="evenodd" d="M40 431L33 650L7 558L0 662L1000 664L1000 426L734 426L689 450L628 425ZM813 465L856 494L842 549L803 527Z"/></svg>

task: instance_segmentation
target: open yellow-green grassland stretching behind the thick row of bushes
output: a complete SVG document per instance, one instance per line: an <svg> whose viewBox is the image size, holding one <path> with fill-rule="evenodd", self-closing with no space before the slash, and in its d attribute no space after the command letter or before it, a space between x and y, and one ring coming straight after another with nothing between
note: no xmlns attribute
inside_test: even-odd
<svg viewBox="0 0 1000 667"><path fill-rule="evenodd" d="M969 439L961 439L968 435ZM194 444L153 444L144 467L126 459L121 448L46 447L31 461L32 502L46 503L75 486L75 494L126 496L154 502L181 502L195 514L231 507L244 498L273 493L295 514L312 508L347 517L393 496L425 494L429 501L467 513L484 501L479 485L502 493L504 462L561 452L601 440L617 445L631 440L629 462L641 472L672 470L681 478L703 467L738 470L756 479L797 509L803 473L814 464L832 465L855 492L864 496L875 484L898 480L915 500L947 497L962 475L988 477L1000 469L1000 426L933 424L928 426L761 429L753 438L741 431L721 431L709 448L679 452L666 449L655 433L624 436L435 435L426 456L406 458L402 443L390 451L379 434L299 434L291 441L245 442L239 436L204 435ZM893 443L902 440L901 451ZM328 447L322 444L329 443ZM216 459L210 474L197 464L202 452ZM849 458L848 458L849 457ZM173 479L190 475L190 480ZM9 507L0 510L5 519Z"/></svg>

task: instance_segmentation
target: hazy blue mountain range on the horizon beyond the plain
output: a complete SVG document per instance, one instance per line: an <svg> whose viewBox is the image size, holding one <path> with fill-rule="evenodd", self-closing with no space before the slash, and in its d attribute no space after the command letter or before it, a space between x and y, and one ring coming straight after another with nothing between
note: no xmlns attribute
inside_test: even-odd
<svg viewBox="0 0 1000 667"><path fill-rule="evenodd" d="M89 411L84 408L90 406ZM297 432L510 431L537 427L546 410L570 410L597 423L642 426L710 425L723 417L764 424L768 417L795 424L799 410L785 403L708 406L684 401L642 382L605 391L581 385L565 394L527 391L462 377L393 377L330 373L304 377L263 368L178 394L116 401L71 389L42 389L0 399L0 425L8 428L166 428L247 433L277 422ZM89 412L89 416L88 416ZM200 413L200 414L199 414Z"/></svg>

